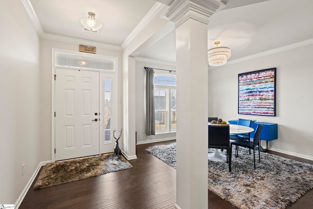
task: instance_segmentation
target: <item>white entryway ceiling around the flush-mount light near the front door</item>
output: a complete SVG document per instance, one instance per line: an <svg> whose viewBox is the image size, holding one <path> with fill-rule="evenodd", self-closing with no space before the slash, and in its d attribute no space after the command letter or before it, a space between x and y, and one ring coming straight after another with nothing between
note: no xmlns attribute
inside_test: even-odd
<svg viewBox="0 0 313 209"><path fill-rule="evenodd" d="M122 45L156 3L154 0L29 0L45 33ZM98 34L83 31L80 19L95 13Z"/></svg>

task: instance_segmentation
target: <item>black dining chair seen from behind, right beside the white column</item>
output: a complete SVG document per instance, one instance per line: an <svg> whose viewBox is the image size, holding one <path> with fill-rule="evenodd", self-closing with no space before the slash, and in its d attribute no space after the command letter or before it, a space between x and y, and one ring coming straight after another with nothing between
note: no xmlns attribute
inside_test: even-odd
<svg viewBox="0 0 313 209"><path fill-rule="evenodd" d="M208 136L209 148L226 150L226 163L228 163L229 172L231 172L231 147L229 143L229 126L209 125Z"/></svg>

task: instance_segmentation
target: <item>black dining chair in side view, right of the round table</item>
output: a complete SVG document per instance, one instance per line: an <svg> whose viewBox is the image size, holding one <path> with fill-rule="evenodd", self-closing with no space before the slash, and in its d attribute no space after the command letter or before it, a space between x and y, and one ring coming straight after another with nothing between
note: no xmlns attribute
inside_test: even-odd
<svg viewBox="0 0 313 209"><path fill-rule="evenodd" d="M259 163L261 163L261 155L260 155L260 135L261 135L261 130L262 130L263 124L258 125L255 133L254 133L254 138L252 141L250 140L242 140L242 139L237 139L234 142L230 143L230 152L232 150L232 145L236 146L235 149L235 157L238 157L238 148L239 146L241 147L246 147L249 148L249 150L253 149L253 160L254 160L254 169L255 169L255 147L258 146L259 149ZM250 151L249 151L250 152Z"/></svg>

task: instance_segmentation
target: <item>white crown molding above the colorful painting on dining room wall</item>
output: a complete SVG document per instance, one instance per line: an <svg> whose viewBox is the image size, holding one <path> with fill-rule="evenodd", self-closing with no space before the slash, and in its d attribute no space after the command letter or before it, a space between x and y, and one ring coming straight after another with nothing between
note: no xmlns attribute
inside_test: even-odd
<svg viewBox="0 0 313 209"><path fill-rule="evenodd" d="M238 59L235 59L235 60L230 60L230 61L228 61L226 63L226 65L231 65L231 64L239 63L239 62L244 62L244 61L247 61L247 60L256 59L256 58L263 57L263 56L266 56L266 55L275 54L275 53L278 53L278 52L287 51L287 50L290 50L290 49L293 49L293 48L298 48L298 47L301 47L301 46L307 46L307 45L310 45L310 44L313 44L313 38L305 40L305 41L297 42L297 43L294 43L294 44L281 46L281 47L278 47L278 48L273 48L273 49L270 49L268 51L263 51L263 52L260 52L260 53L248 55L246 57L238 58Z"/></svg>

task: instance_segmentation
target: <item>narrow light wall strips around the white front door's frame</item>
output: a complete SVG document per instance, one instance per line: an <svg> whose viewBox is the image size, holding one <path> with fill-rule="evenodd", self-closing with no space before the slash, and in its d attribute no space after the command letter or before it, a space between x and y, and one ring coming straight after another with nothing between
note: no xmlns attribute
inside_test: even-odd
<svg viewBox="0 0 313 209"><path fill-rule="evenodd" d="M42 89L42 132L43 140L41 151L43 155L42 161L51 160L51 49L63 49L78 52L79 44L55 41L50 39L42 39L41 41L41 89ZM118 58L118 130L122 127L122 52L97 47L98 55L106 55ZM121 136L121 139L123 135ZM123 147L121 147L122 149Z"/></svg>

